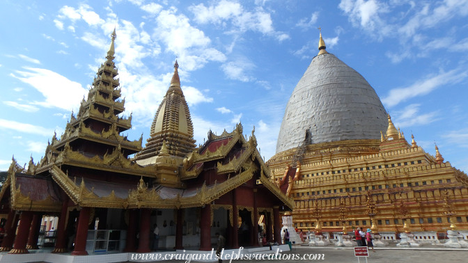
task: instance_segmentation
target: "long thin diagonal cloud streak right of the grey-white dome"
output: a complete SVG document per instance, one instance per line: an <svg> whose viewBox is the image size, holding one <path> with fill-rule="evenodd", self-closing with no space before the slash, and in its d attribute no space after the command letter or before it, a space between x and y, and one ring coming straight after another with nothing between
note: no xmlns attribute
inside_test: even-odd
<svg viewBox="0 0 468 263"><path fill-rule="evenodd" d="M426 95L432 92L432 90L448 83L458 83L466 77L468 77L468 71L461 71L459 69L442 72L433 77L416 81L416 83L408 87L393 88L390 90L389 95L382 99L382 103L387 107L392 107L412 97Z"/></svg>

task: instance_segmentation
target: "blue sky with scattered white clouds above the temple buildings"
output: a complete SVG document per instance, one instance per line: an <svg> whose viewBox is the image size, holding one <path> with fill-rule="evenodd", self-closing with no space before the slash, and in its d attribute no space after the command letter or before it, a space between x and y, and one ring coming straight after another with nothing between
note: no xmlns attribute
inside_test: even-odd
<svg viewBox="0 0 468 263"><path fill-rule="evenodd" d="M468 170L468 1L4 0L0 17L0 170L63 132L114 26L130 139L148 138L177 56L197 143L242 121L269 159L320 26L408 140Z"/></svg>

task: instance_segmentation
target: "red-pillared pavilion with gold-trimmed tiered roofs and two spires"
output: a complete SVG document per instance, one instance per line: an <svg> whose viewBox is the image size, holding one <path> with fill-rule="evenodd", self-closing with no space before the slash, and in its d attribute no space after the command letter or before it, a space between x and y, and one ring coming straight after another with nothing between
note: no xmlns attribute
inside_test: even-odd
<svg viewBox="0 0 468 263"><path fill-rule="evenodd" d="M72 255L111 249L96 241L98 231L114 242L113 250L150 252L155 223L157 242L168 249L211 250L214 231L224 234L232 248L258 246L259 218L265 218L268 238L280 240L279 215L292 209L292 198L271 182L255 134L247 140L242 125L219 136L209 131L196 148L177 61L146 147L142 138L129 141L120 135L131 128L132 115L119 117L125 99L120 100L115 38L114 29L87 99L64 133L54 134L45 157L37 164L31 158L27 168L13 159L0 192L1 212L8 214L0 250L37 248L43 215L59 216L54 253L65 252L72 239ZM238 218L245 226L242 233Z"/></svg>

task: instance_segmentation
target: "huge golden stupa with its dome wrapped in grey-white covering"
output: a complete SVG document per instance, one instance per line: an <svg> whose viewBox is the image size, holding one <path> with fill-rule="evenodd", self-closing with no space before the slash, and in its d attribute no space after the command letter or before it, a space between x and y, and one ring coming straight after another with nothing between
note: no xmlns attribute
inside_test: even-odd
<svg viewBox="0 0 468 263"><path fill-rule="evenodd" d="M294 198L297 228L341 232L468 230L468 177L393 125L367 81L325 50L292 93L273 178Z"/></svg>

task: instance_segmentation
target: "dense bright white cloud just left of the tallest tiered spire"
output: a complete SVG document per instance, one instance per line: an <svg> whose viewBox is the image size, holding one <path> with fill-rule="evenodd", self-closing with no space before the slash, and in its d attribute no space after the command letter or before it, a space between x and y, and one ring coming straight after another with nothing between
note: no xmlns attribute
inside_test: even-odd
<svg viewBox="0 0 468 263"><path fill-rule="evenodd" d="M70 111L78 109L81 98L88 93L80 83L70 81L70 79L51 70L36 67L24 67L24 70L27 71L17 70L16 74L19 76L13 74L13 77L28 83L42 93L45 100L34 102L35 104Z"/></svg>

